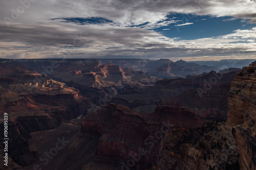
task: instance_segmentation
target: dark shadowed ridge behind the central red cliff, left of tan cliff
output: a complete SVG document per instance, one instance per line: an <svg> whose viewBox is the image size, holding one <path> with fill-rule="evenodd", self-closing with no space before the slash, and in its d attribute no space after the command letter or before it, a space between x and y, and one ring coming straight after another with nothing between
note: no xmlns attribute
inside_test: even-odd
<svg viewBox="0 0 256 170"><path fill-rule="evenodd" d="M126 90L110 101L130 108L147 105L183 106L202 118L227 119L227 94L237 71L218 74L211 71L195 79L162 79L153 86ZM214 81L212 84L209 82ZM207 88L205 88L205 86Z"/></svg>

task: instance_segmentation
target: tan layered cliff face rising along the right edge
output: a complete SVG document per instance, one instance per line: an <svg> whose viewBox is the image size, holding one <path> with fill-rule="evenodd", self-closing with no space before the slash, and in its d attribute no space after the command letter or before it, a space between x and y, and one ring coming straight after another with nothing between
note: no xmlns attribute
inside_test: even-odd
<svg viewBox="0 0 256 170"><path fill-rule="evenodd" d="M228 93L228 123L238 144L241 169L256 169L256 64L243 67Z"/></svg>

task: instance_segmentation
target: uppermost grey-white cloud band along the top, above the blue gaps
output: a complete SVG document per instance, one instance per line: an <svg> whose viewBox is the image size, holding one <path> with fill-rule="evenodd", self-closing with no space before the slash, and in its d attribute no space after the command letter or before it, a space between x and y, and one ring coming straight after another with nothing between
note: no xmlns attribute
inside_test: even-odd
<svg viewBox="0 0 256 170"><path fill-rule="evenodd" d="M1 1L0 14L11 18L14 11L23 7L20 1ZM157 23L163 21L169 12L233 16L236 18L252 19L255 23L254 1L201 1L201 0L108 0L108 1L81 1L74 0L46 0L30 3L25 12L19 14L16 22L48 22L50 18L68 17L103 17L112 20L121 26L140 25L144 22ZM1 17L2 21L4 17Z"/></svg>

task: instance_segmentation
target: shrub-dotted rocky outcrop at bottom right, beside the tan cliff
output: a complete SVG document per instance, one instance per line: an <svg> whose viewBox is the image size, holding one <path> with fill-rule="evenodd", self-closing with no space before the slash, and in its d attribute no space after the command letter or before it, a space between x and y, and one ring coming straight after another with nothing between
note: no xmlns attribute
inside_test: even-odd
<svg viewBox="0 0 256 170"><path fill-rule="evenodd" d="M238 170L238 148L230 130L230 126L213 121L196 130L170 130L161 141L157 169Z"/></svg>

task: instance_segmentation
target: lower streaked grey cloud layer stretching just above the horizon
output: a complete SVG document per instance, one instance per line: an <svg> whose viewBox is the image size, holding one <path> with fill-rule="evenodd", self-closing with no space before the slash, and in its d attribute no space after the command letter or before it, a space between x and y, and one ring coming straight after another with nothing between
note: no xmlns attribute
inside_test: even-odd
<svg viewBox="0 0 256 170"><path fill-rule="evenodd" d="M137 27L58 24L1 26L0 53L5 58L253 58L256 27L219 37L181 40ZM241 43L244 41L244 43ZM197 58L198 59L198 58Z"/></svg>

